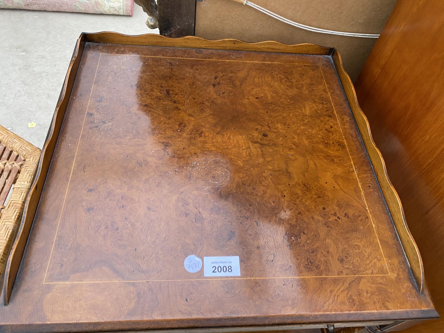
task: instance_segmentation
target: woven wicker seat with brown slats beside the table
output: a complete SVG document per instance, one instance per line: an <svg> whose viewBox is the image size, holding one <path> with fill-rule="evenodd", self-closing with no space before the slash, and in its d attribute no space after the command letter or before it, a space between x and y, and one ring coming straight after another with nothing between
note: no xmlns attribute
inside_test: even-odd
<svg viewBox="0 0 444 333"><path fill-rule="evenodd" d="M39 148L0 125L0 277L20 223L40 152ZM5 203L9 192L11 195Z"/></svg>

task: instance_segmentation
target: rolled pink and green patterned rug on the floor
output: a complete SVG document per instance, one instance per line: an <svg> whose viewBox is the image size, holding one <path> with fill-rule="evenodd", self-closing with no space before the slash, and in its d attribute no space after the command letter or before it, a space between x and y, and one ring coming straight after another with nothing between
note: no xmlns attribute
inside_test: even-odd
<svg viewBox="0 0 444 333"><path fill-rule="evenodd" d="M0 8L133 15L133 0L0 0Z"/></svg>

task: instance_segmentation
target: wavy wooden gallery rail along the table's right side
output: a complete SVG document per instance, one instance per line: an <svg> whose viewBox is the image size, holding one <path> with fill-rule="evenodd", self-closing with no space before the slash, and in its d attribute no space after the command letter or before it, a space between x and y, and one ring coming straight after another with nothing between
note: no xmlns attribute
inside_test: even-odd
<svg viewBox="0 0 444 333"><path fill-rule="evenodd" d="M396 232L398 233L400 242L403 246L405 256L407 257L407 261L410 265L410 268L412 269L412 274L416 281L416 285L420 293L422 293L424 291L424 266L418 246L416 246L416 242L413 239L410 230L408 230L400 198L396 193L396 190L393 187L392 183L390 182L389 175L387 174L387 169L385 167L384 158L382 157L381 151L379 151L379 149L376 147L375 142L373 141L369 121L367 120L364 112L359 107L352 80L345 72L339 52L334 50L332 54L332 59L336 67L337 74L341 79L345 96L349 101L349 105L356 120L357 127L361 132L361 137L364 142L365 149L369 154L370 161L373 165L373 170L376 174L379 185L381 186L382 194L384 194L385 202L392 217L393 224L396 228Z"/></svg>

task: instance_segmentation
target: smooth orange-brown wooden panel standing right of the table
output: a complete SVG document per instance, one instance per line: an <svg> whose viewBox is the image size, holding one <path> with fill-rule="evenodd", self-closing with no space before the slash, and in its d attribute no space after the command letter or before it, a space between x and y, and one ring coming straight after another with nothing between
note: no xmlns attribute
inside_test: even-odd
<svg viewBox="0 0 444 333"><path fill-rule="evenodd" d="M359 79L390 179L424 259L436 309L444 313L444 3L399 1ZM412 333L435 333L425 322Z"/></svg>

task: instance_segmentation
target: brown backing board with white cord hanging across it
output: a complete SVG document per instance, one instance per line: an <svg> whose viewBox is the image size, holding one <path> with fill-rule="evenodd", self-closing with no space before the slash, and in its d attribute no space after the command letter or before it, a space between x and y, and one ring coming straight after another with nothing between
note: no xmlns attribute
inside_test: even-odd
<svg viewBox="0 0 444 333"><path fill-rule="evenodd" d="M396 0L254 0L254 3L289 20L316 28L380 33ZM195 36L212 40L276 40L285 44L313 43L334 47L341 53L345 70L353 81L376 42L374 38L305 31L231 0L198 2Z"/></svg>

